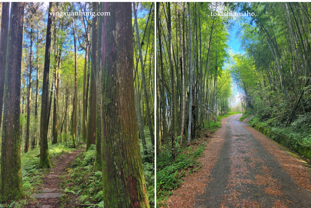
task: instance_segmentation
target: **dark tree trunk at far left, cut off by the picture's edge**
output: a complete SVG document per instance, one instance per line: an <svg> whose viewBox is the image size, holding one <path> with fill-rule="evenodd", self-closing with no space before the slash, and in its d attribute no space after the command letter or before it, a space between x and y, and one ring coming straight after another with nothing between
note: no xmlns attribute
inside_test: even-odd
<svg viewBox="0 0 311 208"><path fill-rule="evenodd" d="M9 4L10 2L2 3L2 19L0 33L0 130L2 120L3 96L4 96L4 76L7 59L7 36L9 34Z"/></svg>

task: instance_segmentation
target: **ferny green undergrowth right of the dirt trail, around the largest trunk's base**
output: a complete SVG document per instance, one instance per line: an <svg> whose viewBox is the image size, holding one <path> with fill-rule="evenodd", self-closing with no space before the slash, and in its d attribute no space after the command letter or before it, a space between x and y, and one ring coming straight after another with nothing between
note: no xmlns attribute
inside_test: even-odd
<svg viewBox="0 0 311 208"><path fill-rule="evenodd" d="M91 145L88 151L79 154L72 164L61 176L63 182L59 185L65 189L67 196L61 197L63 205L95 204L88 207L103 207L102 172L94 171L95 145ZM147 193L151 207L154 207L154 175L152 178L152 164L143 164ZM152 188L150 188L152 187ZM68 197L70 196L70 197ZM72 200L71 200L72 199Z"/></svg>

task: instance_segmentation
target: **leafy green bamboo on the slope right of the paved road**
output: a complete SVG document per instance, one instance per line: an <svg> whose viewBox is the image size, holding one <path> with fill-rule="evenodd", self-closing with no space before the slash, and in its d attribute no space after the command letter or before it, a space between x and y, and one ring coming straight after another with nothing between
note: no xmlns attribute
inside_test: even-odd
<svg viewBox="0 0 311 208"><path fill-rule="evenodd" d="M260 109L262 119L273 118L273 125L282 127L301 116L307 119L311 109L310 3L231 2L228 6L256 14L240 22L239 38L246 53L232 59L244 109Z"/></svg>

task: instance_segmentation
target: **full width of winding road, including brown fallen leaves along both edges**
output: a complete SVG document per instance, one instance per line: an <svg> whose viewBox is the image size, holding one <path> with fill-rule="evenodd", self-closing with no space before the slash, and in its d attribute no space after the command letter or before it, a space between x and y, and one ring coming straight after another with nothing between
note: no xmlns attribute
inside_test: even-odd
<svg viewBox="0 0 311 208"><path fill-rule="evenodd" d="M303 157L238 121L222 119L199 159L168 198L180 207L311 207L311 165Z"/></svg>

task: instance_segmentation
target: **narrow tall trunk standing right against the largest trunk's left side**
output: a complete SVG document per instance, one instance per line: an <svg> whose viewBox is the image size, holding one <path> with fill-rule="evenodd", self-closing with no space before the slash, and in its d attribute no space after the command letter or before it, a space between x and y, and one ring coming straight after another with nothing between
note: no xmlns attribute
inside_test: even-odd
<svg viewBox="0 0 311 208"><path fill-rule="evenodd" d="M93 2L94 3L94 2ZM98 7L98 12L103 12L103 2L100 2L100 5ZM97 4L98 5L98 2ZM93 20L92 20L93 21ZM94 20L95 21L95 20ZM97 22L95 25L97 25L97 30L96 32L92 31L92 41L97 37L97 43L95 42L92 43L92 50L93 50L93 44L97 45L97 50L96 50L96 62L92 59L92 67L94 67L94 72L96 75L96 150L95 150L95 167L94 169L96 170L101 170L101 164L102 164L102 152L101 152L101 146L102 144L102 139L101 139L101 69L102 69L102 62L101 62L101 31L102 31L102 23L103 22L103 16L99 16ZM99 31L99 32L98 32ZM95 36L95 33L97 33L97 36ZM93 36L94 35L94 36ZM93 56L94 52L92 52ZM99 56L97 56L99 54Z"/></svg>

